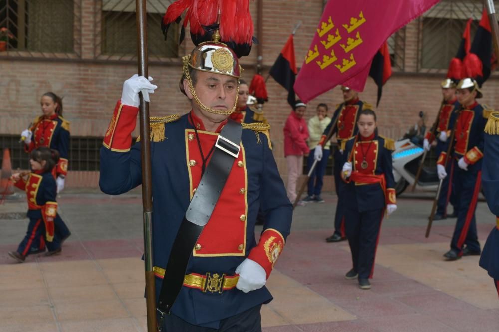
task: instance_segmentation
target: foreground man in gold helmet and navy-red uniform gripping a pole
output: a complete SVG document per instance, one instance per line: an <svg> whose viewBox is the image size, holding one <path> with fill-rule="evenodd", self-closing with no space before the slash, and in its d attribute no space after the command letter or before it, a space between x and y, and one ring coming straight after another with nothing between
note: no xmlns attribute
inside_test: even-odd
<svg viewBox="0 0 499 332"><path fill-rule="evenodd" d="M174 242L184 241L175 241L184 235L179 228L197 221L188 217L188 210L195 200L220 195L195 244L187 248L184 283L170 314L159 317L160 327L168 332L261 331L261 305L272 300L264 285L291 226L292 206L270 149L269 125L241 125L228 119L237 107L241 69L234 52L217 35L183 58L180 88L192 110L155 118L151 126L153 264L159 304L160 289L171 292L162 280L173 274L166 267L176 249ZM101 149L100 187L105 193L118 195L142 182L140 145L132 146L131 133L138 92L146 99L155 88L137 76L123 85ZM234 128L239 128L239 135ZM231 137L224 136L229 130ZM228 156L233 162L227 181L221 191L212 192L213 182L221 181L214 168L221 163L219 157ZM205 181L208 178L213 182ZM257 241L259 212L266 219Z"/></svg>

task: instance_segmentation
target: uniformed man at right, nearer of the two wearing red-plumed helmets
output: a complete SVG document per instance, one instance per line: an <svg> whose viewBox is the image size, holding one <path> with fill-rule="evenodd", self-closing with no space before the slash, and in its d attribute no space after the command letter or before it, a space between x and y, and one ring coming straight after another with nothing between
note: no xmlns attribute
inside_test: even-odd
<svg viewBox="0 0 499 332"><path fill-rule="evenodd" d="M461 256L480 255L477 237L475 209L480 192L482 157L484 150L484 127L489 111L477 103L482 92L472 78L464 78L457 85L458 101L461 109L457 114L454 142L448 162L453 165L453 178L458 220L451 240L451 249L444 254L447 260L457 260ZM446 152L437 161L440 179L447 176L445 170ZM465 246L466 245L466 246Z"/></svg>

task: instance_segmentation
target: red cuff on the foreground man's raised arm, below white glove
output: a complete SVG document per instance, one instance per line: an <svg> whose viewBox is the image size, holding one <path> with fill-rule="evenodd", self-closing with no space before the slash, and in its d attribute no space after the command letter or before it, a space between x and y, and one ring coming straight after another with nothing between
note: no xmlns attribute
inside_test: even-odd
<svg viewBox="0 0 499 332"><path fill-rule="evenodd" d="M119 100L102 144L111 151L130 151L132 132L135 130L138 112L138 107L121 104Z"/></svg>

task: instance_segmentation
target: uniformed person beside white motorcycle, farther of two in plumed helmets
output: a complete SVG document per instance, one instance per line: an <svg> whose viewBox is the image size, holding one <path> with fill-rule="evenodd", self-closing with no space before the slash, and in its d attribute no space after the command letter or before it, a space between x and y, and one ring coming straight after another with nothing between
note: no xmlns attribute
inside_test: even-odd
<svg viewBox="0 0 499 332"><path fill-rule="evenodd" d="M449 147L448 138L452 128L454 127L454 122L456 121L456 113L461 107L456 97L456 84L454 81L447 78L442 81L441 87L444 100L440 106L437 123L433 125L434 131L432 132L429 130L423 140L423 148L426 151L430 151L430 144L436 137L438 138L435 150L437 156L440 156L440 153L442 152L447 152L447 148ZM433 220L446 219L447 217L457 217L456 202L452 193L452 181L450 181L453 174L453 165L453 163L447 163L446 172L451 175L446 177L442 182L440 197L438 198L437 203L437 212L433 217ZM447 215L447 204L449 202L452 204L454 209L452 214Z"/></svg>

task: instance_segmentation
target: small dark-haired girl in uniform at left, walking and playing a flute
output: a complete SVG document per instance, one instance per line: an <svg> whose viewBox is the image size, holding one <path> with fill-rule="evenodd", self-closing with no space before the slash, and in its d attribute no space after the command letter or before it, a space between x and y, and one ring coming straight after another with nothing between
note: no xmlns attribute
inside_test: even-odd
<svg viewBox="0 0 499 332"><path fill-rule="evenodd" d="M33 253L31 248L44 248L46 245L46 256L61 252L60 238L55 233L54 226L54 220L60 217L57 214L57 189L52 175L52 169L58 161L59 153L56 150L39 147L31 151L31 172L12 175L14 186L26 191L28 201L29 224L26 236L17 251L8 252L18 262L22 263L27 255Z"/></svg>

